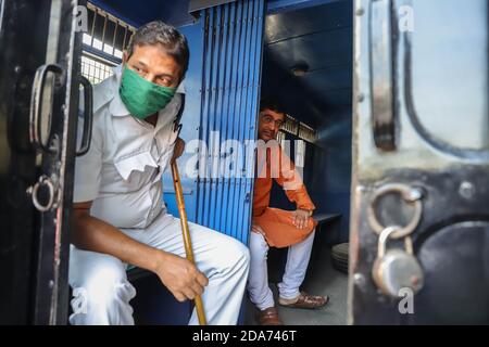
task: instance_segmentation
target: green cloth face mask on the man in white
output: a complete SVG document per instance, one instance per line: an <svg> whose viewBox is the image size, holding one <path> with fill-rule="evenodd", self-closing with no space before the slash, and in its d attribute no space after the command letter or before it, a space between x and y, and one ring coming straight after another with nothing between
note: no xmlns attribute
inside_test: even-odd
<svg viewBox="0 0 489 347"><path fill-rule="evenodd" d="M162 87L124 66L118 93L133 116L145 119L163 110L175 95L176 88Z"/></svg>

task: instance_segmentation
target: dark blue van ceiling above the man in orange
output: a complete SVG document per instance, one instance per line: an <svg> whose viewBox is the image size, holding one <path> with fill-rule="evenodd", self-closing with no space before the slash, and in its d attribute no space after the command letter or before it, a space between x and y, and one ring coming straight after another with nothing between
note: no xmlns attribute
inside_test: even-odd
<svg viewBox="0 0 489 347"><path fill-rule="evenodd" d="M335 108L351 105L352 21L351 0L268 14L263 94L275 97L287 113L315 127ZM309 66L305 76L290 73L298 64Z"/></svg>

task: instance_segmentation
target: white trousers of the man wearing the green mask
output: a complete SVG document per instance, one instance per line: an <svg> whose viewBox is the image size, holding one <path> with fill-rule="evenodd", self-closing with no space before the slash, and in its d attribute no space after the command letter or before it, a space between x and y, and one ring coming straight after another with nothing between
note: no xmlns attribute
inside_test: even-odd
<svg viewBox="0 0 489 347"><path fill-rule="evenodd" d="M202 294L208 323L236 324L248 278L249 250L239 241L205 227L189 222L189 229L196 265L209 279ZM122 231L141 243L185 257L180 221L172 215L162 213L143 230ZM70 323L134 324L129 300L136 290L127 281L126 264L120 259L72 246L70 285L74 296ZM198 324L195 309L189 324Z"/></svg>

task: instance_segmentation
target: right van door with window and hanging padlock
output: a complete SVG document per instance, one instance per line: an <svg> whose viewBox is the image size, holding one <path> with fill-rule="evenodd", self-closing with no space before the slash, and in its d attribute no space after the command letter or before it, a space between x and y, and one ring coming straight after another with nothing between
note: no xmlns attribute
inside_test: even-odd
<svg viewBox="0 0 489 347"><path fill-rule="evenodd" d="M489 323L488 9L355 1L350 323Z"/></svg>

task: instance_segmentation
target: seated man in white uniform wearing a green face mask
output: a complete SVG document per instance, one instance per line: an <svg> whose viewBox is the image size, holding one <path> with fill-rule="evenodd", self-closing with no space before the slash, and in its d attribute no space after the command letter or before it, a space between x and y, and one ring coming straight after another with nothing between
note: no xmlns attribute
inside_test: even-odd
<svg viewBox="0 0 489 347"><path fill-rule="evenodd" d="M188 59L185 37L152 22L134 35L122 67L93 87L91 145L75 166L72 324L134 324L126 265L158 274L179 301L202 295L210 324L237 322L248 248L189 223L193 266L185 259L180 222L162 200L162 172L185 145L177 138L177 87ZM189 323L198 323L196 311Z"/></svg>

